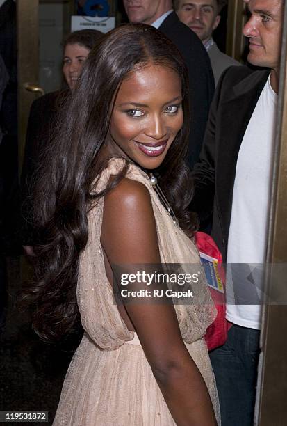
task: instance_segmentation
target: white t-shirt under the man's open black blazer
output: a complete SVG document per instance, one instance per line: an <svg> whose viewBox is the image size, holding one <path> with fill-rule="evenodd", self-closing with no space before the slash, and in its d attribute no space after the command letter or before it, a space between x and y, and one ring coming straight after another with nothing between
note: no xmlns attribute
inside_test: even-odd
<svg viewBox="0 0 287 426"><path fill-rule="evenodd" d="M256 303L262 295L266 260L276 107L269 76L240 146L233 187L226 317L251 329L261 328L262 305Z"/></svg>

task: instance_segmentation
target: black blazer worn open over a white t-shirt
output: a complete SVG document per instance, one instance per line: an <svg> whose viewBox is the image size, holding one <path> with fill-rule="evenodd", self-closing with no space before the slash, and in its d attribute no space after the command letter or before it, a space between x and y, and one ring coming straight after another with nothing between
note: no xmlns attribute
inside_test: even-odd
<svg viewBox="0 0 287 426"><path fill-rule="evenodd" d="M222 74L211 104L200 159L192 172L192 210L199 214L201 223L208 221L213 212L211 235L224 262L238 152L269 74L269 70L253 71L247 67L231 67Z"/></svg>

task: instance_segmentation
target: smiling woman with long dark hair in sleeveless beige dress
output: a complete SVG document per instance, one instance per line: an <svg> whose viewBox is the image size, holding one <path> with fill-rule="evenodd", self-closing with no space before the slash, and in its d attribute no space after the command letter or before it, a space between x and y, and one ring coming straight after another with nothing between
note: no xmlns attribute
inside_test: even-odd
<svg viewBox="0 0 287 426"><path fill-rule="evenodd" d="M162 33L121 26L90 52L42 164L41 244L24 297L44 340L60 339L81 316L54 425L220 423L202 338L215 308L202 269L200 304L128 303L119 281L147 271L139 264L199 267L183 161L188 121L186 68ZM132 281L129 290L141 288Z"/></svg>

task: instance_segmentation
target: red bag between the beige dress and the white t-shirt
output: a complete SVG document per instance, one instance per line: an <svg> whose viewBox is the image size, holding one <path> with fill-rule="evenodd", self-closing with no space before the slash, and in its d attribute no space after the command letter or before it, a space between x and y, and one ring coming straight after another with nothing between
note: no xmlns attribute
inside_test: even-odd
<svg viewBox="0 0 287 426"><path fill-rule="evenodd" d="M221 281L223 287L223 292L219 292L218 290L208 286L211 291L211 297L215 303L215 308L218 310L218 315L213 323L208 326L206 335L204 336L208 351L211 351L212 349L215 349L215 347L224 345L227 340L227 331L231 327L231 324L225 318L225 273L222 266L222 255L218 246L209 235L204 232L196 232L195 244L199 253L204 253L205 255L211 256L211 258L215 258L215 260L217 260L217 262L214 262L215 265L213 265L215 267L215 274L219 281Z"/></svg>

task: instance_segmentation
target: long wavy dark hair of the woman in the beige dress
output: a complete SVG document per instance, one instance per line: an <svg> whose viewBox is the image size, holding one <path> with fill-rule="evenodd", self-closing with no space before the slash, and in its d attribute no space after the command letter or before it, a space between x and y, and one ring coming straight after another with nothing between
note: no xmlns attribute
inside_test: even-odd
<svg viewBox="0 0 287 426"><path fill-rule="evenodd" d="M35 279L24 291L23 303L33 305L33 327L44 340L56 340L72 331L79 308L76 283L79 253L88 239L87 212L91 205L120 182L122 171L101 194L91 191L107 161L99 161L110 115L123 79L148 63L164 65L180 77L183 127L158 168L159 184L179 220L192 235L195 219L187 207L191 199L184 158L188 143L188 73L173 45L160 31L144 24L126 24L108 33L85 61L79 87L65 103L54 141L42 155L35 190ZM93 194L91 194L93 192Z"/></svg>

